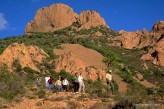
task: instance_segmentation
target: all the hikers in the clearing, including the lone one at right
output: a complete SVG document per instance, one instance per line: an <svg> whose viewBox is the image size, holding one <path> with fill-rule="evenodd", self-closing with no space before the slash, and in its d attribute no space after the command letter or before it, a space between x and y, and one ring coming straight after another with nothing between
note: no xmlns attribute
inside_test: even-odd
<svg viewBox="0 0 164 109"><path fill-rule="evenodd" d="M112 93L114 92L114 85L112 82L112 70L107 71L106 73L106 83L107 83L107 93L110 92L110 90L112 91ZM41 86L41 78L38 77L36 80L37 86ZM67 77L58 77L58 80L56 82L54 82L52 76L46 75L45 77L45 87L49 90L52 89L57 89L58 92L68 92L68 87L70 84L73 84L73 89L74 89L74 93L80 93L83 92L85 93L85 84L84 84L84 79L82 76L82 73L75 73L73 80L68 81Z"/></svg>

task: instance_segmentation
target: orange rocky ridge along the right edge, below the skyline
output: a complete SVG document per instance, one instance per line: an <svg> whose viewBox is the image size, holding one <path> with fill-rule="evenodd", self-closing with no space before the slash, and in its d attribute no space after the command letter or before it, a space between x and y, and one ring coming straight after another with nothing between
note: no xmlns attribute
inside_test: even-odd
<svg viewBox="0 0 164 109"><path fill-rule="evenodd" d="M114 40L117 40L115 45L127 49L150 49L146 53L147 55L144 55L141 59L151 60L154 64L164 66L164 21L156 22L150 32L143 29L141 32L126 32L121 30L119 33L121 35L114 38Z"/></svg>

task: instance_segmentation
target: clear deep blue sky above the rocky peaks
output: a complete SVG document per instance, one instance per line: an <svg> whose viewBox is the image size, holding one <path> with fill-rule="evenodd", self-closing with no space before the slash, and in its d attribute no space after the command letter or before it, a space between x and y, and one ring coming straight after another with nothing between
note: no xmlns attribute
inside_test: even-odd
<svg viewBox="0 0 164 109"><path fill-rule="evenodd" d="M150 31L164 20L164 0L0 0L0 38L24 34L36 11L55 3L67 4L78 14L96 10L116 31Z"/></svg>

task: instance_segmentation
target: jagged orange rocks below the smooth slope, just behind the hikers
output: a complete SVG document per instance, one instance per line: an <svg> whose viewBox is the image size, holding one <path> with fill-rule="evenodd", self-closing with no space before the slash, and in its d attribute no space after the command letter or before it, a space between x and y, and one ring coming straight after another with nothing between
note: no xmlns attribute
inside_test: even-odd
<svg viewBox="0 0 164 109"><path fill-rule="evenodd" d="M72 52L66 52L55 60L55 71L60 72L62 69L73 75L76 72L82 73L85 79L98 80L100 78L105 80L105 70L87 66L86 63L76 57Z"/></svg>

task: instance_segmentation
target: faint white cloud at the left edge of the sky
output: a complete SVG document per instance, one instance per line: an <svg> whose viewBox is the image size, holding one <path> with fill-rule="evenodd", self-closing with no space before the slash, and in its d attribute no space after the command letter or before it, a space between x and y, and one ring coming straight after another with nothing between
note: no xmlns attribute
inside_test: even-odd
<svg viewBox="0 0 164 109"><path fill-rule="evenodd" d="M6 29L8 26L8 22L4 17L3 13L0 13L0 30Z"/></svg>

